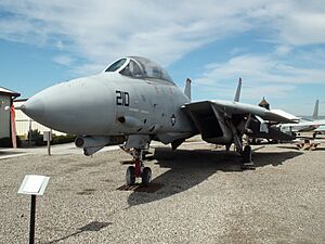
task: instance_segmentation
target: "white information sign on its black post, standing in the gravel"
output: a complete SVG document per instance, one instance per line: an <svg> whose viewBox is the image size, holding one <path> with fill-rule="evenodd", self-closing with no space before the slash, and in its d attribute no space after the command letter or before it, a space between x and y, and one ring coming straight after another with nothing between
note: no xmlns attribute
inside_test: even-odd
<svg viewBox="0 0 325 244"><path fill-rule="evenodd" d="M31 195L29 244L35 243L36 196L43 195L49 180L50 177L46 176L26 175L18 190L18 194Z"/></svg>

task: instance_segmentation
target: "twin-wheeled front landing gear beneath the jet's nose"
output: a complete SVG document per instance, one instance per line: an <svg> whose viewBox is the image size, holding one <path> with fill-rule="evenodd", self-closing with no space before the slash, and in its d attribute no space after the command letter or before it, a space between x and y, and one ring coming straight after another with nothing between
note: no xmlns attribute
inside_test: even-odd
<svg viewBox="0 0 325 244"><path fill-rule="evenodd" d="M148 184L152 180L152 169L144 167L142 150L132 150L131 155L133 156L134 166L129 166L126 172L126 181L128 185L135 183L136 178L142 178L142 184Z"/></svg>

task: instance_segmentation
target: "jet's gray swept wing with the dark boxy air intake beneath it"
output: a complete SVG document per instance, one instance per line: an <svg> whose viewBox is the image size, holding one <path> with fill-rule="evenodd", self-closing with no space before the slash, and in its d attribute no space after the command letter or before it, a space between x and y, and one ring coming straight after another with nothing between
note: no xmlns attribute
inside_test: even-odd
<svg viewBox="0 0 325 244"><path fill-rule="evenodd" d="M204 140L217 144L235 143L242 147L244 133L250 137L290 140L290 136L273 126L295 123L298 118L281 110L266 110L236 101L211 100L183 106Z"/></svg>

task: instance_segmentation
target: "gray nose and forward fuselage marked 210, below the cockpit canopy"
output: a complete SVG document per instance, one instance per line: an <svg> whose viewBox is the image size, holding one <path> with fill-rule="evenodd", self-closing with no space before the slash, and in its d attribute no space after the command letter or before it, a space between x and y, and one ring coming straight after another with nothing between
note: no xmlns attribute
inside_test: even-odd
<svg viewBox="0 0 325 244"><path fill-rule="evenodd" d="M153 134L169 143L193 134L181 110L188 98L171 82L101 73L50 87L24 105L31 118L79 136ZM169 134L171 138L166 138Z"/></svg>

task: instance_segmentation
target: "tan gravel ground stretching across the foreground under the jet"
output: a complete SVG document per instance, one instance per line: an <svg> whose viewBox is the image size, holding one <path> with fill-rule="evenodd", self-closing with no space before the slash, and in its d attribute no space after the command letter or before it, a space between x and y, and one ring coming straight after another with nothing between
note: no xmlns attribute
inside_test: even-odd
<svg viewBox="0 0 325 244"><path fill-rule="evenodd" d="M37 198L37 243L325 243L325 143L253 146L256 170L206 143L155 145L155 193L117 191L130 156L26 155L0 160L0 243L27 243L26 174L50 176Z"/></svg>

